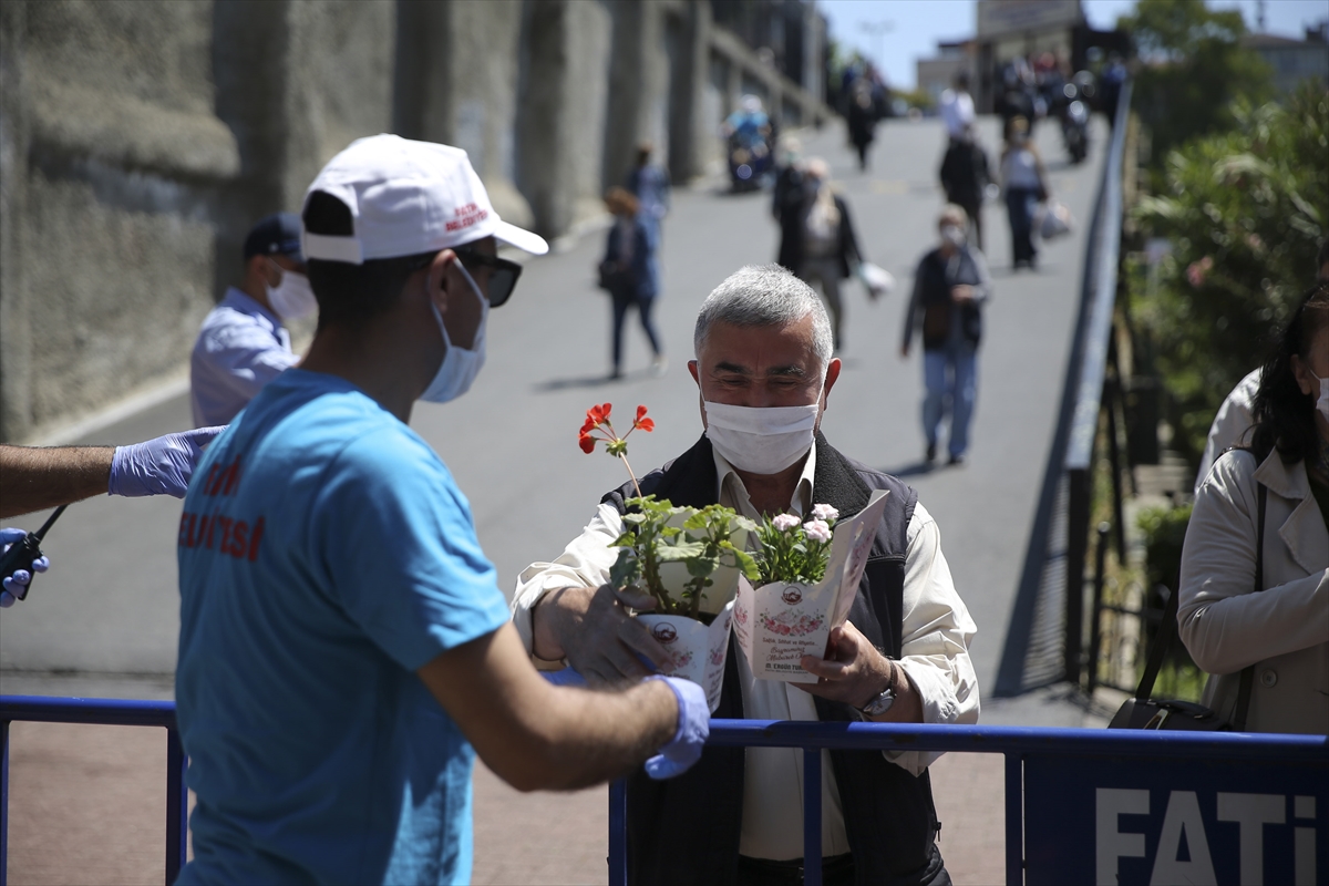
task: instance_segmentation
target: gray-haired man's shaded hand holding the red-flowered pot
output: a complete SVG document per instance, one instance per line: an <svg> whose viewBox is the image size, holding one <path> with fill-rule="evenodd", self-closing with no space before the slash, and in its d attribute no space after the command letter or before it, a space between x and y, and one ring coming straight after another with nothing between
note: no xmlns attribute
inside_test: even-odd
<svg viewBox="0 0 1329 886"><path fill-rule="evenodd" d="M567 659L590 685L639 680L671 667L650 631L627 614L651 610L647 594L598 588L562 587L549 591L536 606L534 652L541 659Z"/></svg>

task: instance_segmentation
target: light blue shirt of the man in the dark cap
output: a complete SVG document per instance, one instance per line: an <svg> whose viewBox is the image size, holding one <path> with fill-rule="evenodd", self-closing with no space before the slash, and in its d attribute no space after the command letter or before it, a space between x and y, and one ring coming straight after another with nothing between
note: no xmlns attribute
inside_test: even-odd
<svg viewBox="0 0 1329 886"><path fill-rule="evenodd" d="M282 320L235 287L203 319L189 359L194 425L229 425L268 381L300 357Z"/></svg>

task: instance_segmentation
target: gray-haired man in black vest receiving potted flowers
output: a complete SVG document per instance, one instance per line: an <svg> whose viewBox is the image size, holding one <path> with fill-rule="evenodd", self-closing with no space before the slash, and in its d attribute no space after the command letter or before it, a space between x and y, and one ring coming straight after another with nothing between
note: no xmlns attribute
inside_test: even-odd
<svg viewBox="0 0 1329 886"><path fill-rule="evenodd" d="M755 677L731 650L716 717L974 723L975 632L956 594L936 522L913 489L836 450L820 433L840 377L817 295L777 266L746 267L702 304L688 371L700 389L702 438L641 480L675 505L719 502L751 518L859 513L890 491L849 620L827 659L805 656L815 684ZM537 660L563 660L591 683L619 683L668 656L627 610L609 569L631 485L607 493L561 557L520 576L513 619ZM823 882L949 883L924 752L823 752ZM634 883L801 882L801 752L707 748L668 784L629 788Z"/></svg>

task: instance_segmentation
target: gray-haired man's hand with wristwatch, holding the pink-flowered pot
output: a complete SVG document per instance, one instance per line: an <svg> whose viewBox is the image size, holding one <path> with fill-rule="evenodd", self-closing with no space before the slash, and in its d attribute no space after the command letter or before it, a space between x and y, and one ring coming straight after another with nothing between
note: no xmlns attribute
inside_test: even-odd
<svg viewBox="0 0 1329 886"><path fill-rule="evenodd" d="M815 684L795 683L804 692L861 708L894 683L896 703L874 717L881 723L922 723L922 699L905 669L884 656L853 626L845 622L831 628L829 658L803 656L803 669L815 673Z"/></svg>

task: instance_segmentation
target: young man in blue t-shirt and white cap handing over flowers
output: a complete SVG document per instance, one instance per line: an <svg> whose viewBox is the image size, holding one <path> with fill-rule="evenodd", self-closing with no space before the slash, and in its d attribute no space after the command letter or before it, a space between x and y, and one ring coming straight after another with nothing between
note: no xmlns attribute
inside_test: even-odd
<svg viewBox="0 0 1329 886"><path fill-rule="evenodd" d="M553 687L526 658L448 468L407 425L461 396L485 319L542 254L465 151L376 135L306 195L308 356L209 448L179 526L175 696L198 794L182 883L465 882L474 753L575 788L706 737L700 687ZM472 749L473 748L473 749Z"/></svg>

